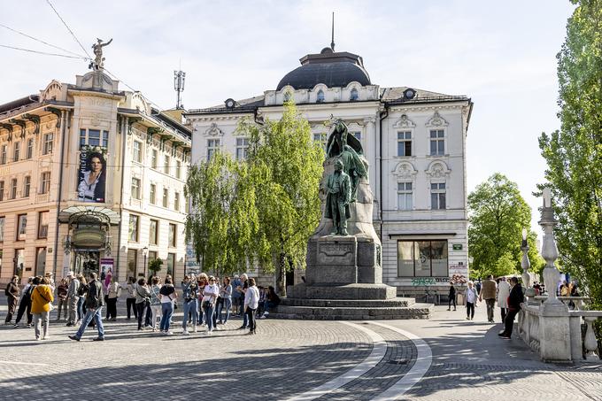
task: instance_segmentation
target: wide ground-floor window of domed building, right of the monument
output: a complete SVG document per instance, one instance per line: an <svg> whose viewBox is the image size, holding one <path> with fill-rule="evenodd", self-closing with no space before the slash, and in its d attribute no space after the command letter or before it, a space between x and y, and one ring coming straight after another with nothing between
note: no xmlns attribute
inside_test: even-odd
<svg viewBox="0 0 602 401"><path fill-rule="evenodd" d="M397 241L397 276L448 277L447 241Z"/></svg>

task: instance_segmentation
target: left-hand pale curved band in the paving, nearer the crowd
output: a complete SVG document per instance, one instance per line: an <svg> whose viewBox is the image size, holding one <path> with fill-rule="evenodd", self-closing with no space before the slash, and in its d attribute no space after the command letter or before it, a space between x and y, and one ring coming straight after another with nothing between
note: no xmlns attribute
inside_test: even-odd
<svg viewBox="0 0 602 401"><path fill-rule="evenodd" d="M321 397L324 394L327 394L328 392L334 389L338 389L339 387L344 386L348 382L357 379L362 374L367 373L367 371L376 366L382 360L382 358L384 358L384 355L387 352L387 343L384 341L381 335L374 333L374 331L360 326L359 324L350 323L347 321L341 321L340 323L351 326L352 328L357 328L366 333L368 337L370 337L373 343L372 352L370 352L370 355L368 355L366 359L361 361L359 365L355 366L351 370L348 370L344 374L335 377L329 382L325 382L324 384L316 387L315 389L311 389L295 397L290 397L287 401L306 401Z"/></svg>

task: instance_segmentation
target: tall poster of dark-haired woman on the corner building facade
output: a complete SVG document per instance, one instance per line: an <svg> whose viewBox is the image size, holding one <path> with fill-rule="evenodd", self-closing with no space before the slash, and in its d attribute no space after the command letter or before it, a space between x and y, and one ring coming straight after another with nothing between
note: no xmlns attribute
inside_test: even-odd
<svg viewBox="0 0 602 401"><path fill-rule="evenodd" d="M77 200L81 202L106 202L106 156L99 147L82 146L78 173Z"/></svg>

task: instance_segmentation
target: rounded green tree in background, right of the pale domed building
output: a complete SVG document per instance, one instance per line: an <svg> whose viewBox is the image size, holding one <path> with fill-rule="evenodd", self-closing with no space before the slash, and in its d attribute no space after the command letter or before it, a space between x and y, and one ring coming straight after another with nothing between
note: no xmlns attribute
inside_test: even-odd
<svg viewBox="0 0 602 401"><path fill-rule="evenodd" d="M530 231L531 209L521 197L515 182L503 174L493 174L468 196L468 252L474 277L522 272L522 229L529 235L529 262L541 268L536 255L535 233Z"/></svg>

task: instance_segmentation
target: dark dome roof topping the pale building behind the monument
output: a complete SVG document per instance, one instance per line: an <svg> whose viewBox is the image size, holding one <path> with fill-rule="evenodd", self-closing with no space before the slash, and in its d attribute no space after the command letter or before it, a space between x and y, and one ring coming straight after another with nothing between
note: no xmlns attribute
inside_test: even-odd
<svg viewBox="0 0 602 401"><path fill-rule="evenodd" d="M347 52L335 53L330 48L330 51L325 50L301 58L302 66L284 75L276 90L286 85L294 89L313 89L319 83L328 88L340 88L352 81L358 81L362 86L371 85L370 76L359 56Z"/></svg>

